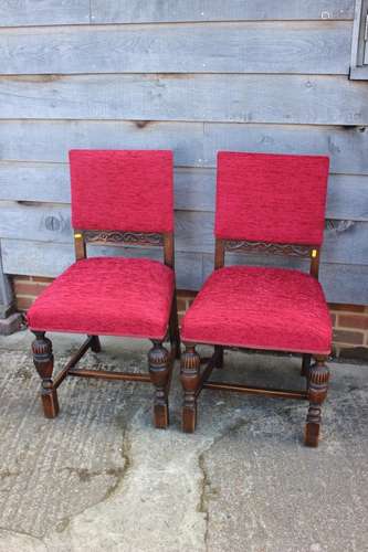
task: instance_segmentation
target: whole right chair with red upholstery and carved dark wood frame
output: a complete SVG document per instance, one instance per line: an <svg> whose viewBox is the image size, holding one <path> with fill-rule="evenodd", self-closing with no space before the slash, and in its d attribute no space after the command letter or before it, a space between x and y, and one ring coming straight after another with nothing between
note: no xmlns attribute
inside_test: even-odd
<svg viewBox="0 0 368 552"><path fill-rule="evenodd" d="M241 391L308 400L305 443L317 446L332 344L330 318L318 283L327 178L326 157L219 153L214 272L182 320L185 432L194 431L197 397L203 388ZM299 256L311 261L311 272L224 267L227 251ZM214 346L202 374L197 343ZM301 353L306 391L209 381L212 369L222 367L224 347Z"/></svg>

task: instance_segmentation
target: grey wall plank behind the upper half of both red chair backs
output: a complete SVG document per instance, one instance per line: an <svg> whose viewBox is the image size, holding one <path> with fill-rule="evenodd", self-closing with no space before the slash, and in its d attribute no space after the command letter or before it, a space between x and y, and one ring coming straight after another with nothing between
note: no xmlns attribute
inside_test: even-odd
<svg viewBox="0 0 368 552"><path fill-rule="evenodd" d="M175 205L181 211L214 211L215 170L175 169ZM70 203L69 166L0 162L0 200ZM368 177L330 174L327 217L368 221Z"/></svg>

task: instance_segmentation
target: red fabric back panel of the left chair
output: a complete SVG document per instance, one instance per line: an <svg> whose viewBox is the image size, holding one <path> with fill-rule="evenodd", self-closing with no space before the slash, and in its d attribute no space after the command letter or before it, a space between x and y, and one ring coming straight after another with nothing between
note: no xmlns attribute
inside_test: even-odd
<svg viewBox="0 0 368 552"><path fill-rule="evenodd" d="M80 230L172 232L172 152L70 151L72 224Z"/></svg>

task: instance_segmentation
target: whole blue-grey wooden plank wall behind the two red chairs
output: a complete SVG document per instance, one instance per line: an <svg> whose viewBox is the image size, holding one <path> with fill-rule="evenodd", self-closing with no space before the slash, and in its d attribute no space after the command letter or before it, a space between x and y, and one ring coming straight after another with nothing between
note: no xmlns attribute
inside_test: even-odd
<svg viewBox="0 0 368 552"><path fill-rule="evenodd" d="M354 0L0 1L4 272L72 262L71 148L174 150L187 289L212 268L218 150L324 153L322 280L330 301L367 305L368 83L348 79L353 18Z"/></svg>

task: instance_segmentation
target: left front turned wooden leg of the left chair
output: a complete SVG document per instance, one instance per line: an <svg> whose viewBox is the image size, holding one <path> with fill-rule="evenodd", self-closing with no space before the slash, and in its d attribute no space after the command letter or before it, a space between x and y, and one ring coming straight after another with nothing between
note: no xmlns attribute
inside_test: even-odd
<svg viewBox="0 0 368 552"><path fill-rule="evenodd" d="M59 401L56 390L53 388L52 371L54 357L52 354L52 342L45 338L44 331L34 331L32 342L33 363L42 380L41 400L45 417L55 417L59 414Z"/></svg>

